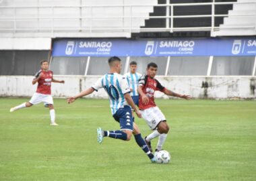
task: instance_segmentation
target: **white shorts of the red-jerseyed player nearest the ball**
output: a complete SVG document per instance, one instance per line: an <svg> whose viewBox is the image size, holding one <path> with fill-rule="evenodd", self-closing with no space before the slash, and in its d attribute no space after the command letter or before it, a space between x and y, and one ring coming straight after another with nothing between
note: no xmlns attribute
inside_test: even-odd
<svg viewBox="0 0 256 181"><path fill-rule="evenodd" d="M165 121L164 114L158 107L150 107L141 111L141 116L146 120L148 126L154 130L161 121Z"/></svg>

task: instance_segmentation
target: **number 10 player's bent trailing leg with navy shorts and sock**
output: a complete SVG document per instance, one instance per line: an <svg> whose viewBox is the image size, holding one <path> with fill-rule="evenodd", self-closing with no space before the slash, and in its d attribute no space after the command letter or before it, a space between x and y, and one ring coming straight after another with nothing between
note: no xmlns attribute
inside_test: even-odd
<svg viewBox="0 0 256 181"><path fill-rule="evenodd" d="M103 137L111 137L114 139L122 139L129 141L133 134L133 121L131 119L131 108L125 106L120 108L115 115L113 115L116 121L120 123L121 130L115 131L103 131L100 127L97 129L98 142L102 143Z"/></svg>

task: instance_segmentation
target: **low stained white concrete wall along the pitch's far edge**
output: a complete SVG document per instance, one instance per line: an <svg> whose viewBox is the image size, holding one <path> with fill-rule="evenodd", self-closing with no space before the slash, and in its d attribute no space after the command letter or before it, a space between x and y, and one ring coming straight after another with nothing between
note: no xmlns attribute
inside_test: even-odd
<svg viewBox="0 0 256 181"><path fill-rule="evenodd" d="M55 76L65 84L52 84L53 97L69 97L89 88L100 76ZM0 76L0 97L31 97L36 91L33 76ZM191 95L195 99L256 99L255 76L201 77L158 76L158 80L170 90ZM88 96L106 98L103 89ZM156 97L168 99L158 92Z"/></svg>

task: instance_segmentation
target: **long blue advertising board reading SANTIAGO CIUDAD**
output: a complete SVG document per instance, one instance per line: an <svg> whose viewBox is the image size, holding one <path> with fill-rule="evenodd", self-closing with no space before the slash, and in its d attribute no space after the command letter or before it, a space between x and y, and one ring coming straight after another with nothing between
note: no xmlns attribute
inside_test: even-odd
<svg viewBox="0 0 256 181"><path fill-rule="evenodd" d="M61 39L52 56L256 56L256 37Z"/></svg>

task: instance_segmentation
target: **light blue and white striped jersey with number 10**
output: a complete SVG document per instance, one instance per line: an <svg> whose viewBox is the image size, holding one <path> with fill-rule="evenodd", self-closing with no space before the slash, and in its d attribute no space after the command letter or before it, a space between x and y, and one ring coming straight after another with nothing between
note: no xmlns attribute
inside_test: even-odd
<svg viewBox="0 0 256 181"><path fill-rule="evenodd" d="M104 88L108 94L110 109L113 115L119 108L123 108L128 103L125 101L125 94L130 93L130 88L125 76L121 74L105 74L92 86L95 91Z"/></svg>

